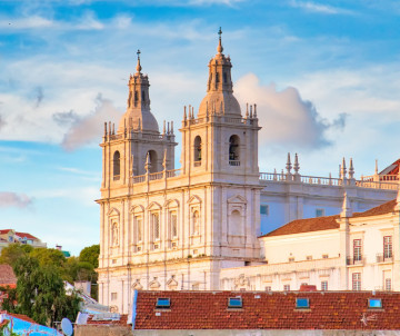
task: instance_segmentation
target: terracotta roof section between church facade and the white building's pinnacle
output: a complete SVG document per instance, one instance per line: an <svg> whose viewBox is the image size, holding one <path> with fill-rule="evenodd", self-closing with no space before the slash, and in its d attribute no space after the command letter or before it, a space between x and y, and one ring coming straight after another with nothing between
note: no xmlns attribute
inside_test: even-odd
<svg viewBox="0 0 400 336"><path fill-rule="evenodd" d="M338 229L339 224L337 219L339 215L327 216L327 217L316 217L316 218L306 218L306 219L296 219L293 221L283 225L282 227L263 235L261 237L273 237L273 236L284 236L292 234L302 234L310 231L320 231L329 229Z"/></svg>

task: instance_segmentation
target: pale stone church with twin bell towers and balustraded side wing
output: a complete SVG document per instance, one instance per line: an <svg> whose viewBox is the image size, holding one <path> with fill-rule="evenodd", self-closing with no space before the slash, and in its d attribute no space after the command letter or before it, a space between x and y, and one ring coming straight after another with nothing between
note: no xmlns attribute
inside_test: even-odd
<svg viewBox="0 0 400 336"><path fill-rule="evenodd" d="M198 110L183 109L179 169L176 125L163 122L160 131L139 52L127 111L118 127L104 123L98 284L100 303L113 312L129 312L134 289L231 286L230 269L241 277L267 264L262 235L301 218L337 215L344 194L354 211L396 198L397 174L357 180L351 159L348 169L343 159L338 178L302 176L297 155L288 155L282 172L260 172L263 111L253 102L242 110L234 98L221 30L208 68Z"/></svg>

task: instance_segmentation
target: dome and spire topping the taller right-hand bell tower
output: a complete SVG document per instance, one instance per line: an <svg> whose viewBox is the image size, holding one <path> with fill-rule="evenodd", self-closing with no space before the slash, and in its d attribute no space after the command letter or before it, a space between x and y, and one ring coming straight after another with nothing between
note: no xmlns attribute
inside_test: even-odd
<svg viewBox="0 0 400 336"><path fill-rule="evenodd" d="M221 28L218 33L220 37L217 55L208 65L207 95L200 103L198 118L206 117L207 113L241 117L239 102L233 96L232 63L230 57L222 53Z"/></svg>

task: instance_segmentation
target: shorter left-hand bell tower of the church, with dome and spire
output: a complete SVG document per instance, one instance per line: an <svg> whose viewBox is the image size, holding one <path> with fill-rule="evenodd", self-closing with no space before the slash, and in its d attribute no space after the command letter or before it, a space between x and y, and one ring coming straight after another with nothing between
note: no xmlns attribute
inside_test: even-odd
<svg viewBox="0 0 400 336"><path fill-rule="evenodd" d="M129 185L133 176L174 169L173 122L163 123L162 134L150 109L149 77L141 72L140 50L137 72L130 75L127 111L119 127L104 123L103 188ZM164 157L168 158L164 162ZM166 167L163 167L166 165Z"/></svg>

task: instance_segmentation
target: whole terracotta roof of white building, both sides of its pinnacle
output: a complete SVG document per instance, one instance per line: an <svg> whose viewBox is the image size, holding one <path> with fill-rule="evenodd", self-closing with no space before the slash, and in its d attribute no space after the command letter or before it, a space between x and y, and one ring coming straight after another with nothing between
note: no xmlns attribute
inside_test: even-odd
<svg viewBox="0 0 400 336"><path fill-rule="evenodd" d="M389 214L394 210L394 206L396 206L396 199L392 199L367 211L354 213L352 217L369 217L369 216ZM273 236L284 236L284 235L338 229L339 223L337 221L337 219L339 218L340 215L296 219L260 237L273 237Z"/></svg>

